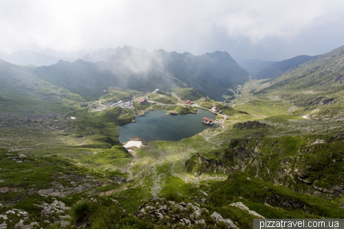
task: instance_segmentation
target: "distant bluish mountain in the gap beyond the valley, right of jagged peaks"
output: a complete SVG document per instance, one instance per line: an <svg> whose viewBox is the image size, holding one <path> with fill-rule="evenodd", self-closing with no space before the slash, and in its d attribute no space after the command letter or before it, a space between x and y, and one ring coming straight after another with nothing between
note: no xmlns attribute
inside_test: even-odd
<svg viewBox="0 0 344 229"><path fill-rule="evenodd" d="M257 79L274 78L279 74L286 72L288 69L301 65L302 63L310 61L316 57L318 56L301 55L279 62L248 60L242 61L239 65L246 69L251 76Z"/></svg>

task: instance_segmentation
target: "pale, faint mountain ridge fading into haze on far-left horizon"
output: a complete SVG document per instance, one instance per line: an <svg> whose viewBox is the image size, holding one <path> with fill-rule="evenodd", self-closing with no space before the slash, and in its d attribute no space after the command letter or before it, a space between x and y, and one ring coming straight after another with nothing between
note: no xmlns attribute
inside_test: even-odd
<svg viewBox="0 0 344 229"><path fill-rule="evenodd" d="M73 58L67 57L56 57L56 56L47 56L33 51L19 51L19 52L0 52L0 59L14 65L53 65L56 64L59 60L63 61L76 61Z"/></svg>

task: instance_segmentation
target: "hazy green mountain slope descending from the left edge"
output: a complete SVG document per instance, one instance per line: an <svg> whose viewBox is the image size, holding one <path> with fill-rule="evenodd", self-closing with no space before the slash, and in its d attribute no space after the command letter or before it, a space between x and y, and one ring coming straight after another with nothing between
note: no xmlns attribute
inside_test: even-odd
<svg viewBox="0 0 344 229"><path fill-rule="evenodd" d="M83 98L51 85L19 67L0 60L1 113L44 113L79 106Z"/></svg>

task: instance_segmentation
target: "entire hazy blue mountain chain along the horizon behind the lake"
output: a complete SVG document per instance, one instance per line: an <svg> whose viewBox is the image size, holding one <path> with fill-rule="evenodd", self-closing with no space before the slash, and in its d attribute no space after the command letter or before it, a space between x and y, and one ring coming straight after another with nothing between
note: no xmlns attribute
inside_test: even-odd
<svg viewBox="0 0 344 229"><path fill-rule="evenodd" d="M248 73L257 79L274 78L316 58L303 55L280 62L241 62L246 72L228 52L219 51L194 56L189 52L148 52L124 46L101 48L89 52L78 61L32 51L1 55L5 61L17 65L43 65L30 69L30 72L86 100L95 100L103 94L103 89L115 86L138 91L153 91L156 88L173 91L176 88L193 87L210 98L222 100L222 95L228 89L244 85Z"/></svg>

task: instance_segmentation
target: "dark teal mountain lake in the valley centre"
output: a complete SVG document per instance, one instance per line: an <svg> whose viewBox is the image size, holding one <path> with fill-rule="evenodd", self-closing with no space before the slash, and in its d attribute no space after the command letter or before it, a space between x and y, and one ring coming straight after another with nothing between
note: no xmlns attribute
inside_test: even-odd
<svg viewBox="0 0 344 229"><path fill-rule="evenodd" d="M218 124L208 126L202 118L215 119L215 113L198 109L197 114L188 113L180 116L164 116L166 111L149 111L145 116L136 117L135 123L120 127L120 142L130 138L140 138L144 142L152 140L179 141L201 133L207 128L216 128Z"/></svg>

